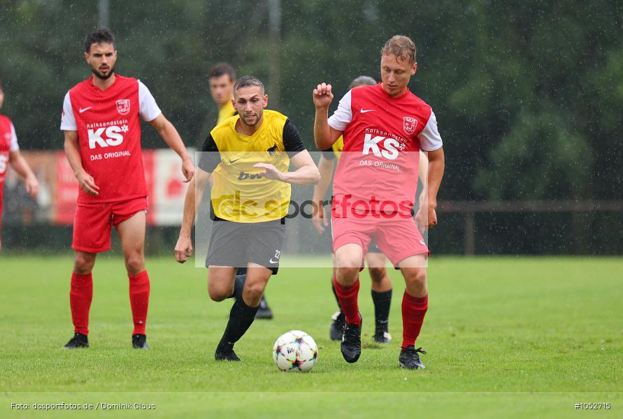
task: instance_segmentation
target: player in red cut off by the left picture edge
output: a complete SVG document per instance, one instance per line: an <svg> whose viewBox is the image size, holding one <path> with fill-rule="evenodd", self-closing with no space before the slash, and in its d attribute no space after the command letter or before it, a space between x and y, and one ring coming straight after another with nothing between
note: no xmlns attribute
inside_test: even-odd
<svg viewBox="0 0 623 419"><path fill-rule="evenodd" d="M4 87L0 81L0 109L4 104ZM2 193L8 165L17 172L26 185L26 191L32 198L36 198L39 191L39 182L28 166L28 163L20 153L20 145L17 144L17 134L13 122L4 115L0 115L0 233L2 232ZM2 250L2 238L0 237L0 250Z"/></svg>

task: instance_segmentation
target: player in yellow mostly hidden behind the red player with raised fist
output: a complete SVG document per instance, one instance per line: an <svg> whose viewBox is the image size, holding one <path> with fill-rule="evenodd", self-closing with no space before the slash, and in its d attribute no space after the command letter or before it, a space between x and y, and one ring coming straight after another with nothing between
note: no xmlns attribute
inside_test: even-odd
<svg viewBox="0 0 623 419"><path fill-rule="evenodd" d="M355 87L373 85L376 83L376 80L373 78L367 75L360 75L355 80L352 80L348 88L354 89ZM324 200L325 196L327 196L327 191L329 190L329 185L331 184L335 161L340 158L343 148L344 139L343 137L340 137L336 142L334 142L334 145L332 145L331 148L322 150L320 161L318 162L320 182L314 186L313 192L313 202L321 203L319 205L320 208L322 208L322 200ZM427 172L426 163L426 154L424 154L424 152L420 152L420 176L424 176L420 177L420 179L425 179ZM426 182L423 182L423 184L426 184ZM424 196L424 194L420 194L420 196ZM318 233L322 234L324 233L325 228L329 226L329 217L324 214L324 210L315 211L312 217L312 223ZM331 289L333 290L337 301L337 295L333 285L336 270L335 255L332 256L334 260L334 268L333 278L331 278ZM385 255L381 253L380 249L378 249L374 240L372 240L368 246L366 262L368 263L368 271L370 272L370 278L372 280L371 293L372 301L374 302L375 318L374 340L382 344L387 344L390 340L392 340L392 335L389 335L389 307L392 305L392 281L389 279L387 270L385 269L387 258L385 258ZM346 319L342 309L340 308L339 302L338 311L331 316L331 319L333 322L331 323L331 328L329 329L329 337L331 337L331 340L341 340L342 330Z"/></svg>

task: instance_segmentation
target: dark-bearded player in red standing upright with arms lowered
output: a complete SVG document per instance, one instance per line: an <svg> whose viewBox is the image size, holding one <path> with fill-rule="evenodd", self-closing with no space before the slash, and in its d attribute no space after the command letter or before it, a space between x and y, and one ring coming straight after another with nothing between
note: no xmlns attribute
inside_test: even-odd
<svg viewBox="0 0 623 419"><path fill-rule="evenodd" d="M143 250L148 193L139 117L156 128L164 142L179 154L186 182L194 176L194 166L178 131L162 115L145 84L115 74L115 36L108 29L87 35L85 61L93 75L67 92L61 120L65 154L80 183L73 223L76 258L69 293L74 336L64 348L89 346L91 272L97 253L110 249L114 226L129 278L132 346L147 349L150 281Z"/></svg>

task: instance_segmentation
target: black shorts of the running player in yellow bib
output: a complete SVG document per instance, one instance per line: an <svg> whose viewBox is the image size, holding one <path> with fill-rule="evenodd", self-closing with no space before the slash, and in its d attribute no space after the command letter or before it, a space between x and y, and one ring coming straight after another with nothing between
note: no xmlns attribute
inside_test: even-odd
<svg viewBox="0 0 623 419"><path fill-rule="evenodd" d="M206 267L210 265L246 267L248 263L277 273L285 219L262 223L236 223L216 219L212 225Z"/></svg>

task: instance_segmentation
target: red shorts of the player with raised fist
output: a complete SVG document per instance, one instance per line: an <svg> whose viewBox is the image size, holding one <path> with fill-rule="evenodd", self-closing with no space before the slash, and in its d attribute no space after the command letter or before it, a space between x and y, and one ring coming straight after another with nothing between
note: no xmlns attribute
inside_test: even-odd
<svg viewBox="0 0 623 419"><path fill-rule="evenodd" d="M396 216L392 219L378 219L366 216L358 219L355 217L331 218L331 233L333 234L333 251L344 244L359 244L364 249L364 255L368 252L368 244L374 239L380 251L398 267L401 260L414 255L430 256L429 248L420 230L411 217Z"/></svg>

